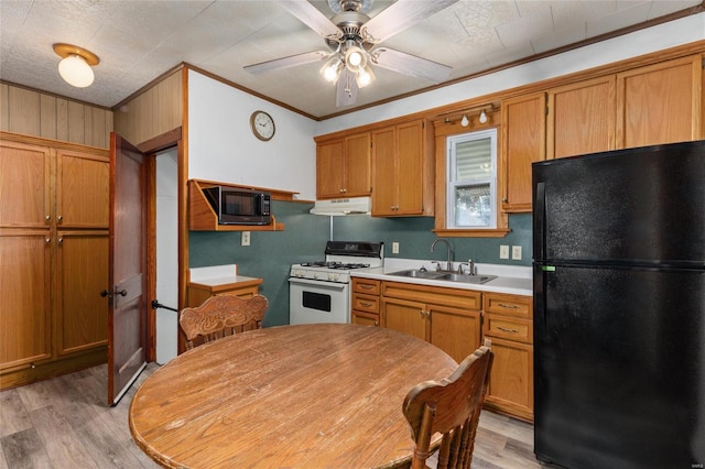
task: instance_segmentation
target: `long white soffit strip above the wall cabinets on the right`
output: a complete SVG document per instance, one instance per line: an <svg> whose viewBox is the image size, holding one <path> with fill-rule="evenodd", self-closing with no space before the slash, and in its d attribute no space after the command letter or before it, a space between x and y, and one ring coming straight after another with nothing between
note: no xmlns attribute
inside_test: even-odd
<svg viewBox="0 0 705 469"><path fill-rule="evenodd" d="M705 13L318 122L316 135L423 111L705 39Z"/></svg>

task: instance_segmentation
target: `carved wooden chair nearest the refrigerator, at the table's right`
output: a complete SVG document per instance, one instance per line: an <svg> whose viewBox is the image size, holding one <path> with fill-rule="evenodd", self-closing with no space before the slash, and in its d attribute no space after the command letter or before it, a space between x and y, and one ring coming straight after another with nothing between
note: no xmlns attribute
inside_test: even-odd
<svg viewBox="0 0 705 469"><path fill-rule="evenodd" d="M492 366L489 340L468 356L451 377L441 381L424 381L406 394L403 413L411 427L416 447L412 469L426 467L431 436L443 434L438 451L438 469L469 468L475 434L485 402Z"/></svg>

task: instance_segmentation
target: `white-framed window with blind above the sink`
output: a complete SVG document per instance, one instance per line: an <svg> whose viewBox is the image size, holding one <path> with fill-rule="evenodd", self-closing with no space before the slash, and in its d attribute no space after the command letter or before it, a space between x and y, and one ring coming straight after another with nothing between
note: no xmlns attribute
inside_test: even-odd
<svg viewBox="0 0 705 469"><path fill-rule="evenodd" d="M446 149L446 228L497 228L497 129L448 137Z"/></svg>

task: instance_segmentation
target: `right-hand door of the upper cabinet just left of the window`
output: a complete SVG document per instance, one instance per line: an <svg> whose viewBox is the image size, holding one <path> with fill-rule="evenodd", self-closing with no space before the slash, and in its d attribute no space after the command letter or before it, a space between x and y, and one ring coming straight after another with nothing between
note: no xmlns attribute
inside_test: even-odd
<svg viewBox="0 0 705 469"><path fill-rule="evenodd" d="M399 187L397 215L423 214L423 124L421 121L397 127Z"/></svg>

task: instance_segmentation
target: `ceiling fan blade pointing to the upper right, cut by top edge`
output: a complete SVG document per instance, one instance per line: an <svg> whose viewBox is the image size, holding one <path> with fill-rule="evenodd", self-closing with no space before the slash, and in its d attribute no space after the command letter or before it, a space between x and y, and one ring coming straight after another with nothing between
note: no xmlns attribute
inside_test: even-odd
<svg viewBox="0 0 705 469"><path fill-rule="evenodd" d="M362 30L366 31L365 39L368 40L368 36L371 36L370 42L380 43L457 1L398 0L365 23L362 26Z"/></svg>

